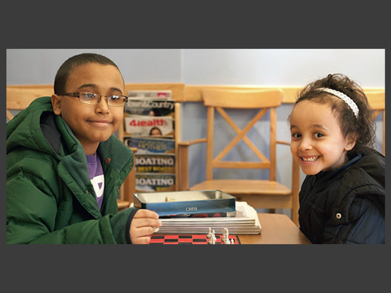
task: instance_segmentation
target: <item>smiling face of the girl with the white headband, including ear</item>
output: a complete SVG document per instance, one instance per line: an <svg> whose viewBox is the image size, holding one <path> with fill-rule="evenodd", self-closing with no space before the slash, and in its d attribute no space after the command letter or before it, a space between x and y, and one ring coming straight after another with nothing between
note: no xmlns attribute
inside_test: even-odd
<svg viewBox="0 0 391 293"><path fill-rule="evenodd" d="M304 100L290 116L291 152L306 175L329 171L348 162L355 140L344 137L329 105Z"/></svg>

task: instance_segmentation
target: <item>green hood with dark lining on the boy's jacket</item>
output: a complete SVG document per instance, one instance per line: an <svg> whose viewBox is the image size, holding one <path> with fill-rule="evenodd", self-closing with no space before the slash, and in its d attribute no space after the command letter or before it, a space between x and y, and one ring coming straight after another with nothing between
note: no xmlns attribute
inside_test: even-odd
<svg viewBox="0 0 391 293"><path fill-rule="evenodd" d="M58 131L49 131L50 128L56 127ZM59 158L61 156L59 131L70 134L71 140L67 140L66 147L70 151L75 150L77 140L62 117L53 113L51 98L38 98L8 122L6 126L7 154L15 148L25 147Z"/></svg>

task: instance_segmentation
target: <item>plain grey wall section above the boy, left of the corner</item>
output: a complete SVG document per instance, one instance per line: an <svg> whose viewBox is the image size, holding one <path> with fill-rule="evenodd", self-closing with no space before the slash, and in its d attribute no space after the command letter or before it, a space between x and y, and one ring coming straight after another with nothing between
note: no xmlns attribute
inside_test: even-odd
<svg viewBox="0 0 391 293"><path fill-rule="evenodd" d="M126 83L180 82L180 49L7 49L7 84L53 84L69 57L99 53L120 68Z"/></svg>

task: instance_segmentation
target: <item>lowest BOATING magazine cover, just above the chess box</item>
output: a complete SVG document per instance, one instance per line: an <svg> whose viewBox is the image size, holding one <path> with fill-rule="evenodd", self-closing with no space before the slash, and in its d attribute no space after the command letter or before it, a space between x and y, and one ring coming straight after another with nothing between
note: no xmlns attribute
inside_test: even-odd
<svg viewBox="0 0 391 293"><path fill-rule="evenodd" d="M136 173L135 192L175 191L175 174Z"/></svg>

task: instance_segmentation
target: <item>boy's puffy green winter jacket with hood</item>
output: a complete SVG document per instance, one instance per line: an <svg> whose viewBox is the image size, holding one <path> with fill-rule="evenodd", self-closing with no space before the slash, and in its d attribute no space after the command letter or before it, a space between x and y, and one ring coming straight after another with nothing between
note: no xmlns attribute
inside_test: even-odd
<svg viewBox="0 0 391 293"><path fill-rule="evenodd" d="M86 154L50 97L33 101L7 124L7 243L122 244L130 242L136 209L117 213L119 188L133 153L115 136L97 153L105 175L101 210Z"/></svg>

